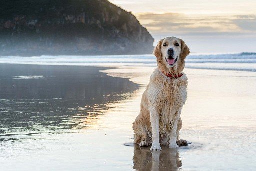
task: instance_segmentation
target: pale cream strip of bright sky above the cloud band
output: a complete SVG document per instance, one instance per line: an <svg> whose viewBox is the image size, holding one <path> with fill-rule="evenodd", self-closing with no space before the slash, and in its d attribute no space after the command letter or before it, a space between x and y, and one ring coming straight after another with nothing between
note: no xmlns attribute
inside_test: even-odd
<svg viewBox="0 0 256 171"><path fill-rule="evenodd" d="M255 0L109 0L136 13L255 14Z"/></svg>

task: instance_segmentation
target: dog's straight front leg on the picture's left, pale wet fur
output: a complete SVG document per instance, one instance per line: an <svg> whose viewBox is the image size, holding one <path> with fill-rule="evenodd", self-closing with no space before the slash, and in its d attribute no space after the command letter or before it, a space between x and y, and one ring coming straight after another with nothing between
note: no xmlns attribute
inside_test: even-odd
<svg viewBox="0 0 256 171"><path fill-rule="evenodd" d="M159 113L156 110L156 107L151 108L149 111L150 111L150 122L151 122L151 128L152 128L152 138L153 138L153 143L150 150L161 151L162 148L160 147Z"/></svg>

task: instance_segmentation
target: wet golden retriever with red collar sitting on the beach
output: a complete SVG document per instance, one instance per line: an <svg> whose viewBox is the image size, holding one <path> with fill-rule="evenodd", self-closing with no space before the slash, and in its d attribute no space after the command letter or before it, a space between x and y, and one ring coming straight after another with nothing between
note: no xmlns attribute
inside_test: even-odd
<svg viewBox="0 0 256 171"><path fill-rule="evenodd" d="M154 151L161 150L160 144L178 148L180 113L188 82L182 72L190 51L183 40L167 37L158 42L153 53L158 68L150 77L142 95L140 113L133 123L134 143L141 147L152 144L150 150Z"/></svg>

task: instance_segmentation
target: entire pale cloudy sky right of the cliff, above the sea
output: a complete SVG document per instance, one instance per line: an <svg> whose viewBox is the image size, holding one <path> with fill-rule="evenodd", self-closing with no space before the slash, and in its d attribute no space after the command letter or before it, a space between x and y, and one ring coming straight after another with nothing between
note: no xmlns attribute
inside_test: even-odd
<svg viewBox="0 0 256 171"><path fill-rule="evenodd" d="M154 37L182 38L196 53L256 52L256 0L109 0Z"/></svg>

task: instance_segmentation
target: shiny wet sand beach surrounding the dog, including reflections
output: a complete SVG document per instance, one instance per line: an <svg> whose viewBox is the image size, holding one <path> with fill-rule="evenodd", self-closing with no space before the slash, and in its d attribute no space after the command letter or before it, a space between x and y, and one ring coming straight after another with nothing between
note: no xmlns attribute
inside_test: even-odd
<svg viewBox="0 0 256 171"><path fill-rule="evenodd" d="M180 137L192 144L150 151L123 144L132 142L131 124L139 112L141 95L153 67L18 66L25 72L12 72L11 65L4 65L5 68L0 65L4 69L4 74L0 72L1 170L255 169L255 72L185 69L189 79L188 99L181 114ZM57 68L59 73L55 71ZM45 78L17 77L24 75ZM49 83L50 80L53 82ZM94 81L100 83L96 85ZM93 83L87 85L87 82ZM11 89L12 84L16 91ZM23 94L25 85L33 91ZM51 89L52 86L55 88ZM40 91L43 98L37 96ZM50 93L46 94L47 91ZM58 95L54 95L55 91ZM91 93L89 98L84 99L84 91ZM7 92L20 94L12 93L7 98ZM27 92L35 93L29 96ZM42 107L41 102L48 105Z"/></svg>

